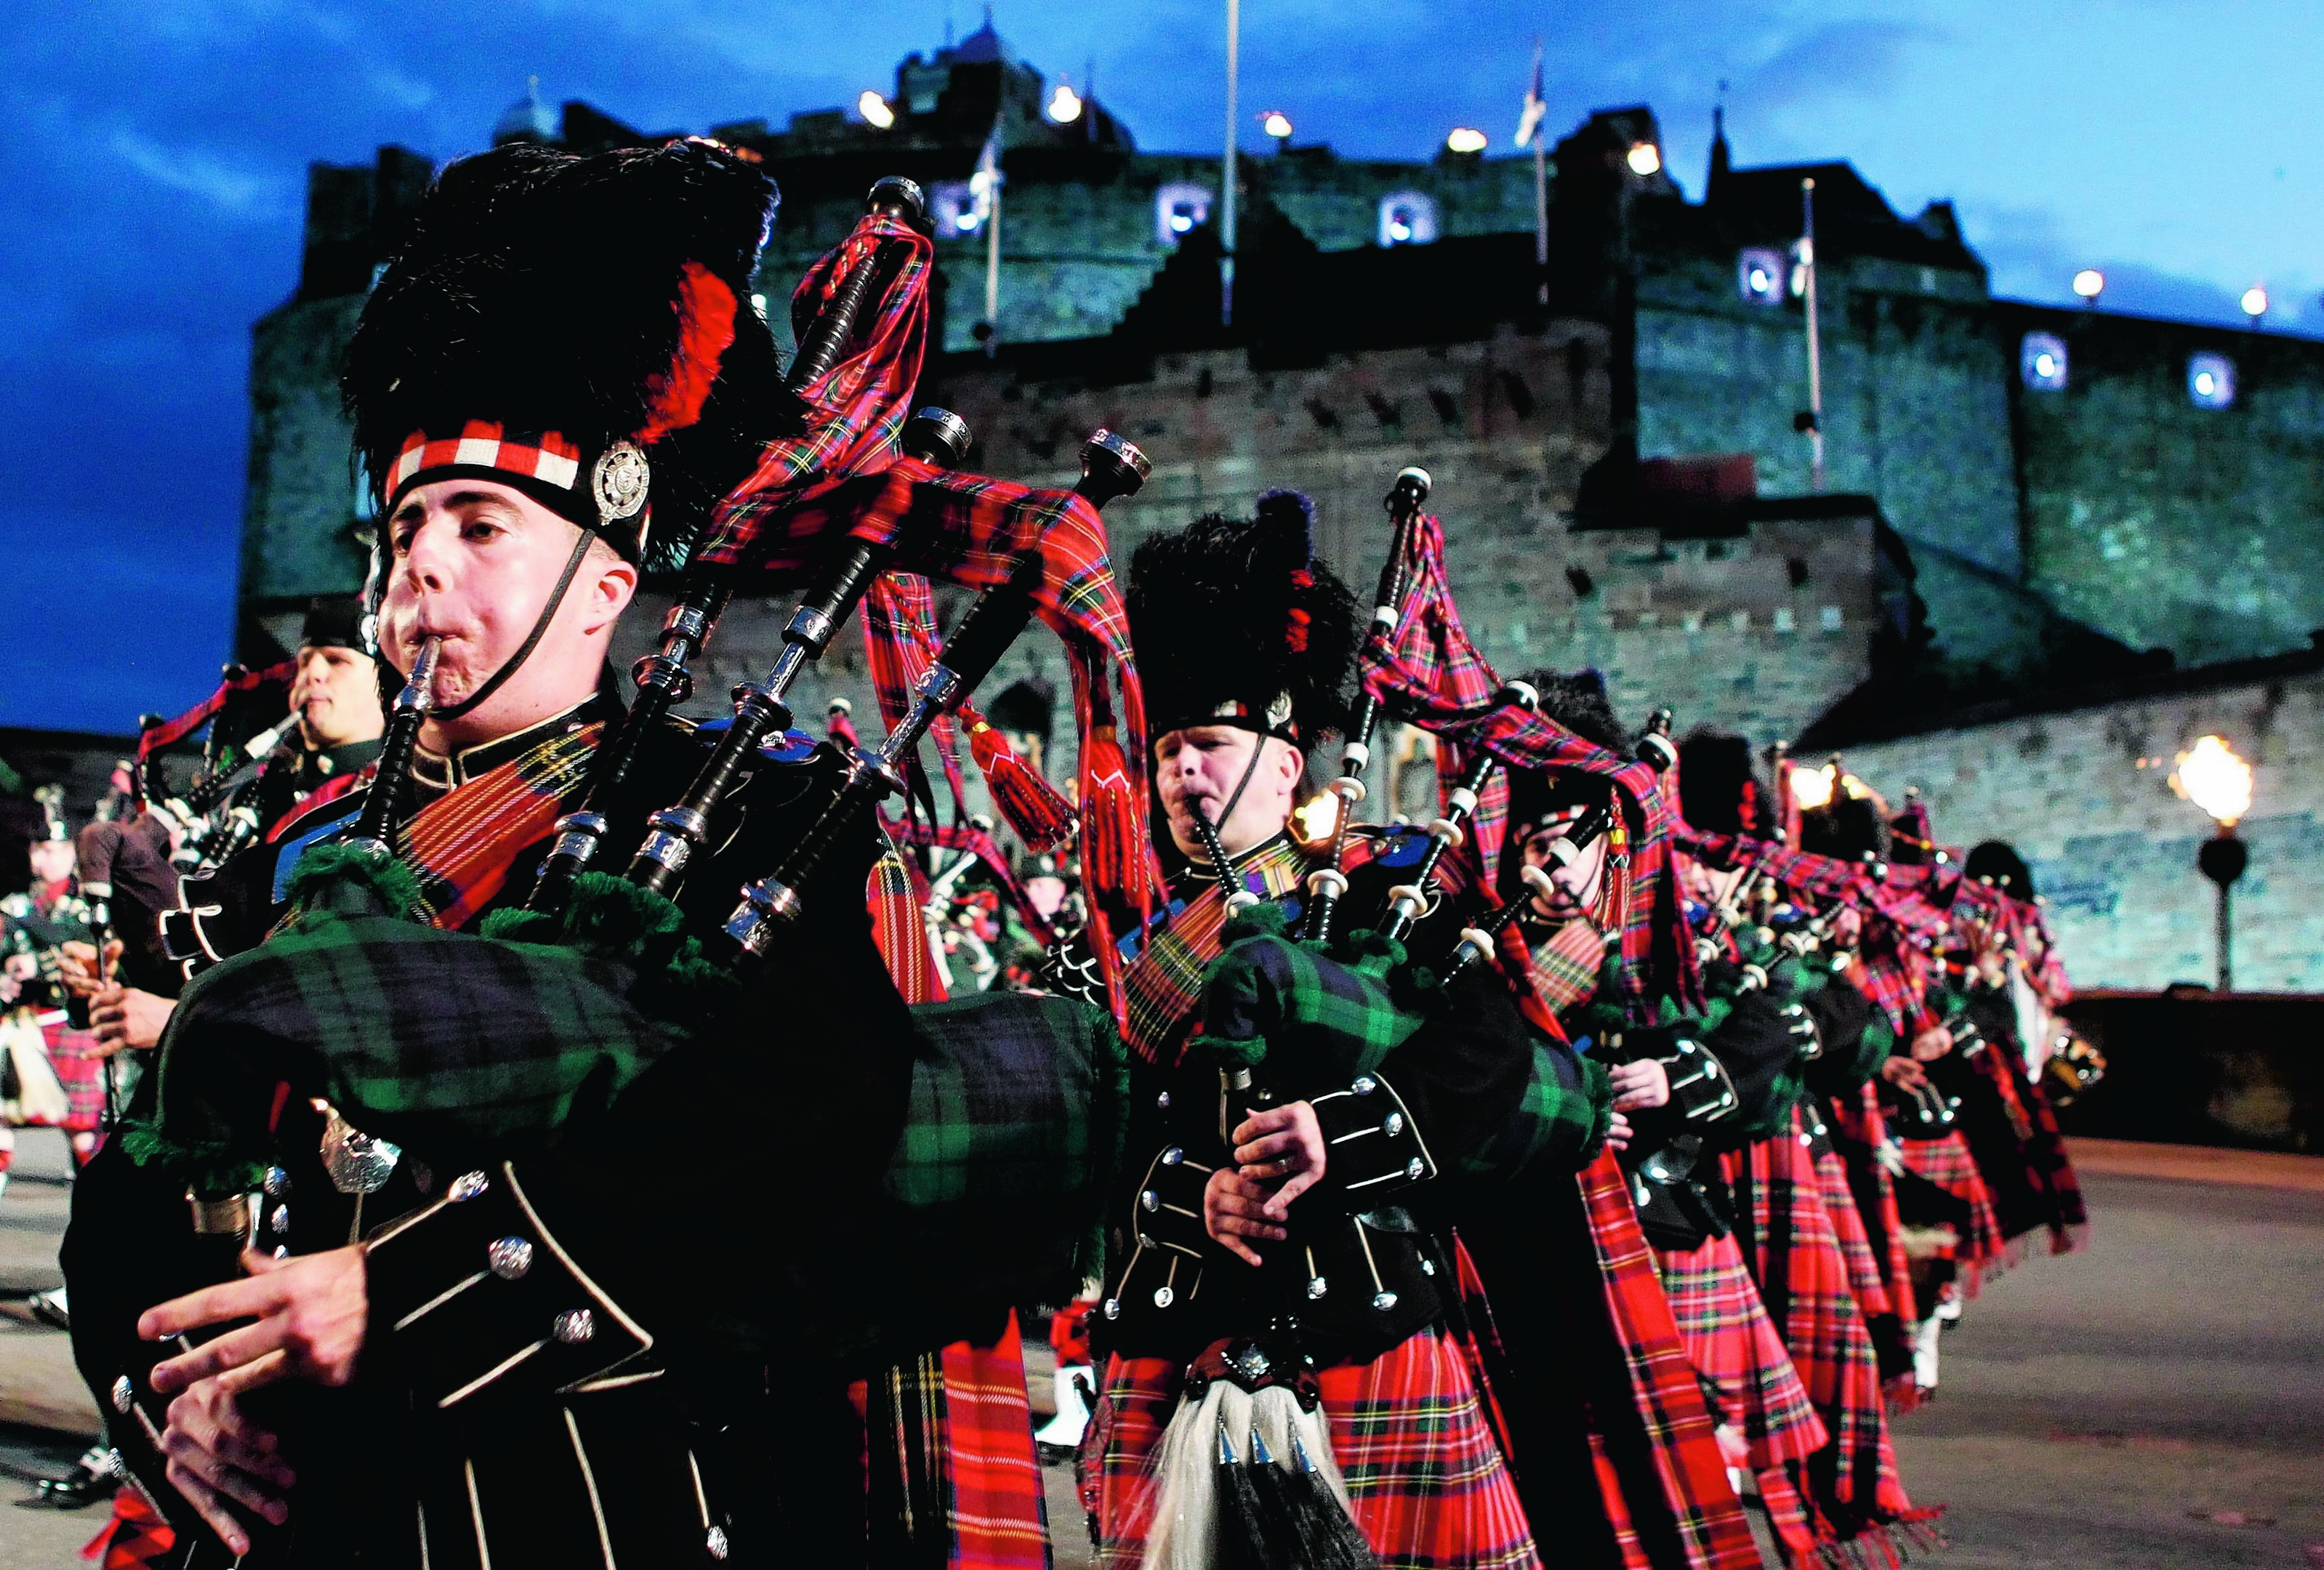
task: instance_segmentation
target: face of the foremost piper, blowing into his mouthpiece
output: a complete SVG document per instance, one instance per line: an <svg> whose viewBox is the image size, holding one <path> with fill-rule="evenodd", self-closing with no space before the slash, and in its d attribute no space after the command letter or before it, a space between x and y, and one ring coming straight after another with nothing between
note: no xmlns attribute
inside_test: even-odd
<svg viewBox="0 0 2324 1570"><path fill-rule="evenodd" d="M379 606L379 657L409 671L428 639L444 639L435 699L458 704L523 648L576 534L576 525L511 485L416 485L388 518L393 562ZM586 699L614 620L634 592L637 569L593 546L539 646L451 741L507 734Z"/></svg>

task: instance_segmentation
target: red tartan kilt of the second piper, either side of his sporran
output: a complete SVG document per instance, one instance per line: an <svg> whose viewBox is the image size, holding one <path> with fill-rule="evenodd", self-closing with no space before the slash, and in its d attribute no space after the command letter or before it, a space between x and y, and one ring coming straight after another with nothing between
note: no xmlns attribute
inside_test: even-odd
<svg viewBox="0 0 2324 1570"><path fill-rule="evenodd" d="M1146 1551L1146 1468L1178 1410L1178 1373L1157 1356L1106 1363L1081 1452L1106 1570L1127 1570ZM1383 1570L1541 1565L1459 1347L1422 1331L1369 1363L1322 1370L1320 1387L1350 1514Z"/></svg>

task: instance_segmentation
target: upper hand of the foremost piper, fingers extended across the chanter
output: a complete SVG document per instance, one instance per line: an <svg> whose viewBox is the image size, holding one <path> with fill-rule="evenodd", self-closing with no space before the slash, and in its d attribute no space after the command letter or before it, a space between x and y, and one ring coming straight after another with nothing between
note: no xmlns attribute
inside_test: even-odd
<svg viewBox="0 0 2324 1570"><path fill-rule="evenodd" d="M230 1377L235 1391L277 1380L346 1384L356 1377L370 1315L360 1245L297 1259L244 1249L242 1268L249 1270L246 1280L188 1291L137 1317L137 1335L144 1340L167 1340L228 1319L258 1319L156 1363L153 1389L167 1396L218 1375Z"/></svg>

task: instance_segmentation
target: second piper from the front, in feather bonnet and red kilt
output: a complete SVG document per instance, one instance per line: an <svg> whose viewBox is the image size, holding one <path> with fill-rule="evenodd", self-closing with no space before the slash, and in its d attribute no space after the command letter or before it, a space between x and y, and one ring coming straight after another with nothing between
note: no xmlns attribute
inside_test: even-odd
<svg viewBox="0 0 2324 1570"><path fill-rule="evenodd" d="M1499 978L1429 992L1376 934L1292 938L1325 866L1292 831L1343 725L1353 597L1304 497L1208 516L1132 562L1167 910L1122 938L1132 1133L1090 1317L1083 1498L1106 1565L1534 1565L1478 1393L1452 1196L1597 1154L1608 1085ZM1367 834L1367 927L1427 836ZM1341 1519L1343 1512L1343 1519ZM1355 1535L1350 1537L1348 1526Z"/></svg>

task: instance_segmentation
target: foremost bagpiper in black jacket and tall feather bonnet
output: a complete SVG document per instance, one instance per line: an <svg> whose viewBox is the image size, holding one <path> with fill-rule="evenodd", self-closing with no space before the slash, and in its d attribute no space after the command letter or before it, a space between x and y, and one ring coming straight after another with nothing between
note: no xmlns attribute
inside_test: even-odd
<svg viewBox="0 0 2324 1570"><path fill-rule="evenodd" d="M788 890L818 920L755 966L704 945L832 806L830 755L739 757L676 906L602 876L558 920L518 910L623 718L607 648L639 576L806 418L748 304L772 200L700 142L453 163L349 346L395 725L372 776L188 894L221 962L65 1240L81 1370L165 1456L132 1472L223 1556L862 1556L841 1354L876 1349L846 1289L895 1236L930 1050L862 917L876 824L818 841ZM679 722L632 741L588 794L616 843L711 755ZM474 936L495 917L539 920ZM593 943L604 922L627 936ZM165 1256L121 1261L137 1231ZM216 1275L214 1238L249 1277L146 1310ZM918 1308L909 1335L960 1333Z"/></svg>

